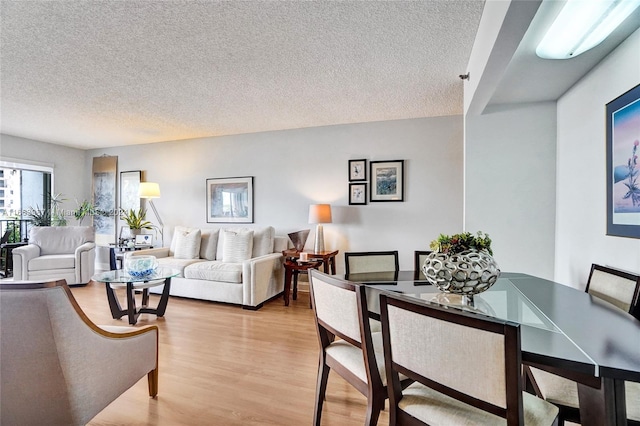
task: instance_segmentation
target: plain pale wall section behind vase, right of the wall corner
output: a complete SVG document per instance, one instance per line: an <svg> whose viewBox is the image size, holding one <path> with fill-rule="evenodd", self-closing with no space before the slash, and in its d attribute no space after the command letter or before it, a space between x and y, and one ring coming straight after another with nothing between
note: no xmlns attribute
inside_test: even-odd
<svg viewBox="0 0 640 426"><path fill-rule="evenodd" d="M553 278L555 103L467 115L465 230L487 232L502 271Z"/></svg>

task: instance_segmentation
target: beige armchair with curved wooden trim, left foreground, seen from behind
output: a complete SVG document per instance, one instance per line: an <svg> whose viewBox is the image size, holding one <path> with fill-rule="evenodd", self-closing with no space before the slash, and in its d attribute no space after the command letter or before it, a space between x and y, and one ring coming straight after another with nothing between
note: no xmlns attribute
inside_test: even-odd
<svg viewBox="0 0 640 426"><path fill-rule="evenodd" d="M158 393L158 327L99 327L64 280L0 283L0 324L0 424L87 424L144 376Z"/></svg>

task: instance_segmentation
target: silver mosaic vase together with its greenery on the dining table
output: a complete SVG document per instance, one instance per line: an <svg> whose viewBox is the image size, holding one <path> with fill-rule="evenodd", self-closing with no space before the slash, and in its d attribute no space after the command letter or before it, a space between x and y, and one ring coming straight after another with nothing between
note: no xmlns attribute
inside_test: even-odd
<svg viewBox="0 0 640 426"><path fill-rule="evenodd" d="M440 291L473 296L488 290L500 275L488 234L440 234L429 246L433 252L422 271Z"/></svg>

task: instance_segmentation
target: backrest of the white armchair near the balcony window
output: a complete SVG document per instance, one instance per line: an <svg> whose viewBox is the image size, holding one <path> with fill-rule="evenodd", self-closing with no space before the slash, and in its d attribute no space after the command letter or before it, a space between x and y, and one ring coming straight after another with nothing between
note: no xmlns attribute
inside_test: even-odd
<svg viewBox="0 0 640 426"><path fill-rule="evenodd" d="M84 243L95 241L92 226L34 226L29 243L40 247L40 256L75 253Z"/></svg>

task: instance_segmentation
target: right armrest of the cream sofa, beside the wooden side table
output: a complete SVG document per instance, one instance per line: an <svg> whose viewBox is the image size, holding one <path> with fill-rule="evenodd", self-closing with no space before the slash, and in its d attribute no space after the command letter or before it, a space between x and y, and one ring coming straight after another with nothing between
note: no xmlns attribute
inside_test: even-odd
<svg viewBox="0 0 640 426"><path fill-rule="evenodd" d="M276 270L282 268L282 259L281 253L270 253L242 262L244 306L258 306L270 297L269 284L276 276Z"/></svg>

